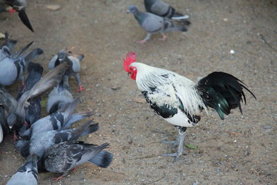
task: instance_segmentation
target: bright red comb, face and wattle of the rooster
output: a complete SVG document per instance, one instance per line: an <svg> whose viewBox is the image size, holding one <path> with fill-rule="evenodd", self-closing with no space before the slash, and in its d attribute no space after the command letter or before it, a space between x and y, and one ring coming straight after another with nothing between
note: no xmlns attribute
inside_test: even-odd
<svg viewBox="0 0 277 185"><path fill-rule="evenodd" d="M123 67L130 78L136 80L136 73L138 71L136 70L136 67L130 66L133 62L136 62L136 53L131 51L126 55L126 59L123 58Z"/></svg>

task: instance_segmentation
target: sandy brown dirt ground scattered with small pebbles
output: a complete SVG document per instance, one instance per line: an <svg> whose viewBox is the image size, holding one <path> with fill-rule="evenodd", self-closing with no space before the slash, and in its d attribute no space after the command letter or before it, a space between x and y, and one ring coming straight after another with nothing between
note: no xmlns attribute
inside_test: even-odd
<svg viewBox="0 0 277 185"><path fill-rule="evenodd" d="M165 0L166 1L166 0ZM166 1L169 2L169 1ZM100 130L82 138L89 143L108 142L114 161L107 169L86 163L66 179L51 182L60 174L39 174L39 184L276 184L276 78L277 2L195 0L170 1L190 15L187 33L167 33L166 41L154 35L146 44L136 44L145 32L127 6L144 11L142 0L45 0L28 1L31 33L17 15L0 15L0 32L18 39L16 49L34 40L41 47L39 62L48 71L48 61L60 49L84 53L81 80L86 91L78 111L94 110ZM46 5L59 4L52 11ZM233 50L235 53L231 54ZM199 125L189 128L186 155L173 162L161 154L174 152L163 140L177 136L175 127L151 112L134 80L123 70L128 51L139 62L197 81L213 71L225 71L243 80L256 95L247 94L247 105L226 116L203 114ZM16 85L8 88L16 93ZM75 125L80 125L76 123ZM8 181L24 158L15 152L10 136L0 144L0 184Z"/></svg>

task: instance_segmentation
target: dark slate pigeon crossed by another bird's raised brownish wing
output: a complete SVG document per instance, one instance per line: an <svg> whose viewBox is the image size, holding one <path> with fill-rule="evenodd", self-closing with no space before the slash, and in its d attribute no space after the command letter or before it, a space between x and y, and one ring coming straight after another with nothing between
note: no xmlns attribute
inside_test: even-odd
<svg viewBox="0 0 277 185"><path fill-rule="evenodd" d="M40 64L30 62L28 64L28 77L25 85L20 89L17 95L17 100L24 94L24 92L30 90L42 77L43 67ZM26 122L32 125L37 121L41 114L42 105L40 103L40 97L31 98L28 100L30 105L26 107Z"/></svg>

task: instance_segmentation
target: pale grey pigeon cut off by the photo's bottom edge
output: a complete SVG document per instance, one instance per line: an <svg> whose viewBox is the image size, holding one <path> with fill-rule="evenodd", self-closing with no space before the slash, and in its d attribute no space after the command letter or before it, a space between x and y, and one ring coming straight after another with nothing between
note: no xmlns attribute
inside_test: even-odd
<svg viewBox="0 0 277 185"><path fill-rule="evenodd" d="M21 166L17 173L12 175L6 185L37 185L37 155L31 155L26 160L24 166Z"/></svg>

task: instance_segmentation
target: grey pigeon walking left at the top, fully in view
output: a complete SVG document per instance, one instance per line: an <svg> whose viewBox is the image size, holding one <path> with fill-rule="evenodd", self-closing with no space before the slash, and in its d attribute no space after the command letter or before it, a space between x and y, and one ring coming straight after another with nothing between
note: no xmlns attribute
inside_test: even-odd
<svg viewBox="0 0 277 185"><path fill-rule="evenodd" d="M143 40L138 41L143 44L150 39L153 33L161 33L162 40L166 39L164 32L181 31L186 32L186 22L174 21L166 17L160 17L150 12L140 12L136 6L129 6L127 12L132 12L136 20L141 27L147 32L146 37Z"/></svg>

